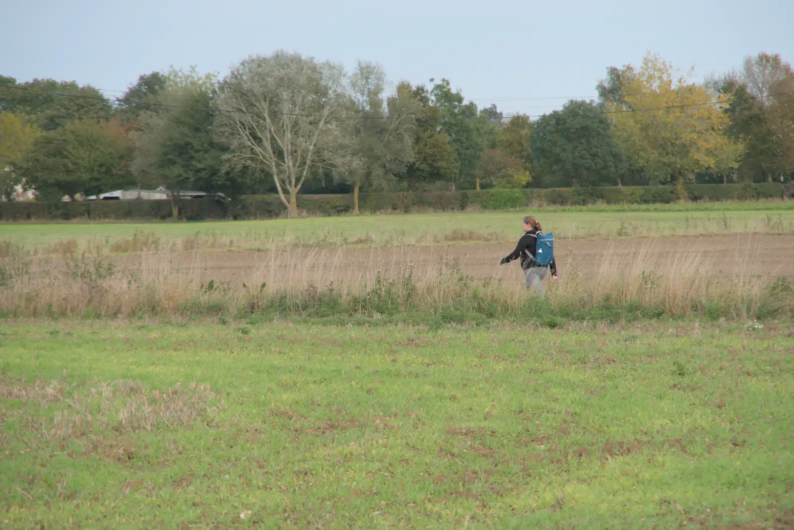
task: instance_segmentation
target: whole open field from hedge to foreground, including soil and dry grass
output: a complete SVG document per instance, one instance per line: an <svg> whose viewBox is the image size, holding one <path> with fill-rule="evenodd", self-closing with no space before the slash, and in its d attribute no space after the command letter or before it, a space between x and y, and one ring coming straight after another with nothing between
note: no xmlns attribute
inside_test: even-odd
<svg viewBox="0 0 794 530"><path fill-rule="evenodd" d="M0 225L0 528L794 528L757 206Z"/></svg>

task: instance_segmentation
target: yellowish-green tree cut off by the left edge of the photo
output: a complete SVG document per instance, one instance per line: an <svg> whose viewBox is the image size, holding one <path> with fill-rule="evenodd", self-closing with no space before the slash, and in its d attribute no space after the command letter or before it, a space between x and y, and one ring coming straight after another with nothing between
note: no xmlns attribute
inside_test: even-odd
<svg viewBox="0 0 794 530"><path fill-rule="evenodd" d="M0 201L10 201L21 185L15 165L33 147L40 130L25 114L0 111Z"/></svg>

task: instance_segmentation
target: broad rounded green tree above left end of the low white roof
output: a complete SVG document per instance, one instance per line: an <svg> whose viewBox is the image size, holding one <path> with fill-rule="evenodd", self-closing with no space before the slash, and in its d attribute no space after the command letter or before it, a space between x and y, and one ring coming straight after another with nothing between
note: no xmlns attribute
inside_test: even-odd
<svg viewBox="0 0 794 530"><path fill-rule="evenodd" d="M116 121L75 120L37 136L18 164L45 200L101 194L133 182L133 144Z"/></svg>

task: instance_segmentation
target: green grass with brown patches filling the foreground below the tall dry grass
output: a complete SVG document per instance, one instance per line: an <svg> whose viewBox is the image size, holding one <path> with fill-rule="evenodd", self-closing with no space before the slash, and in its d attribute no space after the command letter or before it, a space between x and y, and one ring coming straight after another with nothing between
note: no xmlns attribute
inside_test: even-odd
<svg viewBox="0 0 794 530"><path fill-rule="evenodd" d="M794 338L765 326L7 322L0 520L771 524L794 506Z"/></svg>

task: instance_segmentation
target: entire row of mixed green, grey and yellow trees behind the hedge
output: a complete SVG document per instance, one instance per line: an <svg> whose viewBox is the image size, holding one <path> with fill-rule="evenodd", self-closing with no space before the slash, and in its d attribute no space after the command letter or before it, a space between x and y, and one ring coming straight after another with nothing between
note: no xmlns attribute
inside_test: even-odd
<svg viewBox="0 0 794 530"><path fill-rule="evenodd" d="M599 101L538 119L478 109L447 79L399 83L296 53L219 79L141 75L115 101L91 86L0 77L0 194L44 199L125 186L295 195L768 181L794 174L794 73L759 54L694 83L649 54L607 69ZM177 204L175 203L175 214Z"/></svg>

